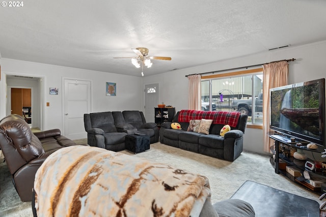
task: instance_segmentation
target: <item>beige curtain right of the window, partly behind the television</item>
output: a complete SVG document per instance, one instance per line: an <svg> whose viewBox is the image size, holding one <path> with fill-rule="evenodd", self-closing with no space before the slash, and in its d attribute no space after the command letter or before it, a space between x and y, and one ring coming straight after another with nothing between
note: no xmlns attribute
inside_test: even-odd
<svg viewBox="0 0 326 217"><path fill-rule="evenodd" d="M270 152L273 140L268 137L270 119L269 89L288 84L289 65L287 61L279 61L263 65L263 139L264 151Z"/></svg>

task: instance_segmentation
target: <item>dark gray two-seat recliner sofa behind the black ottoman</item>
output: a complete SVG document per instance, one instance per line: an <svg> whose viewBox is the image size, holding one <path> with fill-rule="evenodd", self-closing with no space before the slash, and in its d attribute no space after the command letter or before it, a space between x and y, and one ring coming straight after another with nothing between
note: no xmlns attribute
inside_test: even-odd
<svg viewBox="0 0 326 217"><path fill-rule="evenodd" d="M88 144L107 150L124 150L125 136L134 133L148 135L150 143L158 142L156 123L147 123L142 111L84 114L84 125Z"/></svg>

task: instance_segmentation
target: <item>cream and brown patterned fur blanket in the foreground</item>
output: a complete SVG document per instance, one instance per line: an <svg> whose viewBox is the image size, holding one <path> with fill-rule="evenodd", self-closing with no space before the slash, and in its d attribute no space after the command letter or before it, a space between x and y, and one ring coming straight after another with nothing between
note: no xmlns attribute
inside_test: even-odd
<svg viewBox="0 0 326 217"><path fill-rule="evenodd" d="M90 146L61 148L36 173L41 216L199 216L205 176Z"/></svg>

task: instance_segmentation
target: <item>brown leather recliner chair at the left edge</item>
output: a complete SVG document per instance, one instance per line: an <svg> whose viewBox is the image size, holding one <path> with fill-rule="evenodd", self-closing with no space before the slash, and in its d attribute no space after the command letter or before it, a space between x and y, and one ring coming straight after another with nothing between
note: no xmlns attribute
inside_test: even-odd
<svg viewBox="0 0 326 217"><path fill-rule="evenodd" d="M59 129L33 134L28 123L11 114L0 120L0 148L21 201L32 201L35 173L56 150L76 145Z"/></svg>

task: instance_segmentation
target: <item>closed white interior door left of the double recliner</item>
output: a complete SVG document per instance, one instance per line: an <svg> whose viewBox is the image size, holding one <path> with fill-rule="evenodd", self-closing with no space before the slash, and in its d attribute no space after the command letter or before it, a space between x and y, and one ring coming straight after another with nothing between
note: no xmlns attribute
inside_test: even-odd
<svg viewBox="0 0 326 217"><path fill-rule="evenodd" d="M87 138L84 114L90 111L91 81L64 79L64 132L67 138Z"/></svg>

